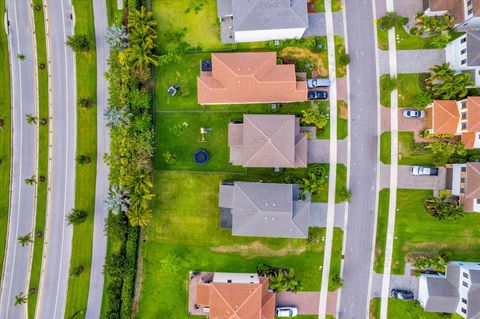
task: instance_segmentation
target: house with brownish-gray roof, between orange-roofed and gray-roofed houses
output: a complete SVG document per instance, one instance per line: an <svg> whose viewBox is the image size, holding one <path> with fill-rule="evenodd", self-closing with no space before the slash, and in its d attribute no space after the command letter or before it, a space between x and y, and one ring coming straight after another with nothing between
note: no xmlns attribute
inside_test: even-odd
<svg viewBox="0 0 480 319"><path fill-rule="evenodd" d="M228 125L230 164L243 167L307 167L307 136L295 115L244 114Z"/></svg>

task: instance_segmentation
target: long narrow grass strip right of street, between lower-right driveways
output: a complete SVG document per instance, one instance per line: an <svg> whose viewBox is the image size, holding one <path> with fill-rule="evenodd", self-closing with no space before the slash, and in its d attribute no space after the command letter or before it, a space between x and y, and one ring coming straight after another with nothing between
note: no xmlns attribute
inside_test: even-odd
<svg viewBox="0 0 480 319"><path fill-rule="evenodd" d="M379 192L377 234L375 240L375 262L373 270L377 274L383 274L385 262L385 245L387 240L388 226L388 201L390 200L390 189L384 188Z"/></svg>

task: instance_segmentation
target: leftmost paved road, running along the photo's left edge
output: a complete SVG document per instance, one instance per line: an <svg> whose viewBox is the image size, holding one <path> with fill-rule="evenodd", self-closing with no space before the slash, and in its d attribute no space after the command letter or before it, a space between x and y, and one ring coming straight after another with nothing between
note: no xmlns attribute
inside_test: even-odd
<svg viewBox="0 0 480 319"><path fill-rule="evenodd" d="M28 293L32 246L22 247L18 236L34 232L36 186L24 180L37 172L37 127L27 124L25 114L37 114L35 102L36 60L33 22L28 1L7 1L13 106L13 160L8 241L0 297L0 318L22 318L26 305L15 306L15 296ZM3 18L3 17L2 17ZM3 20L2 20L3 22ZM17 54L25 54L19 61ZM4 67L4 66L3 66Z"/></svg>

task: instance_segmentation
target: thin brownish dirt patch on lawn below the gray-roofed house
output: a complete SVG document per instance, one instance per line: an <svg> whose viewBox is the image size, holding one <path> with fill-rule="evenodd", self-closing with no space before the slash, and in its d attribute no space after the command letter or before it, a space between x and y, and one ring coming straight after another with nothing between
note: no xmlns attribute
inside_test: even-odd
<svg viewBox="0 0 480 319"><path fill-rule="evenodd" d="M302 246L294 248L288 244L288 246L281 249L274 249L256 241L249 245L219 246L212 247L210 250L216 253L238 253L242 257L250 259L257 256L279 257L286 255L300 255L305 252L306 247Z"/></svg>

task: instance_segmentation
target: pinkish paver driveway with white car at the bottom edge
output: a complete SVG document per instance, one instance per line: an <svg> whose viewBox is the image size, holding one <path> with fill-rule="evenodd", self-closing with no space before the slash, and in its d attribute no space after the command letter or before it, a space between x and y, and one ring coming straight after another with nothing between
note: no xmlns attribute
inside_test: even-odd
<svg viewBox="0 0 480 319"><path fill-rule="evenodd" d="M277 293L276 306L296 306L299 315L318 314L320 292L301 291L296 294L291 292ZM329 292L327 297L327 315L336 315L337 292Z"/></svg>

